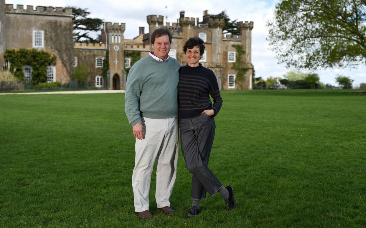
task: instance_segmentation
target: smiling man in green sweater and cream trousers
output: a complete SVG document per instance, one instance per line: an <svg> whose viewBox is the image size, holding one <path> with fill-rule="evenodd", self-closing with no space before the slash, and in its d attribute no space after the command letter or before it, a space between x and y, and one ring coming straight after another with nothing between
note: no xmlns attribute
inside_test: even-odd
<svg viewBox="0 0 366 228"><path fill-rule="evenodd" d="M135 212L142 219L149 212L149 189L155 159L156 204L166 214L178 161L178 82L179 63L169 58L172 34L167 28L152 33L153 51L130 69L126 82L125 111L135 142L135 168L132 173Z"/></svg>

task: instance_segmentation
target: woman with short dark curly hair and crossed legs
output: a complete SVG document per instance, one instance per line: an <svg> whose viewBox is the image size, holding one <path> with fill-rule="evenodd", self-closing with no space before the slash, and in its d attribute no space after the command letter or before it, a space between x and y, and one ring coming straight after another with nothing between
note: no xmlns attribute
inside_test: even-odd
<svg viewBox="0 0 366 228"><path fill-rule="evenodd" d="M184 160L187 169L193 174L193 205L188 212L188 216L193 217L198 215L199 200L206 198L206 192L210 196L219 192L229 209L234 209L236 202L232 186L223 187L208 168L215 135L213 117L223 103L216 76L198 62L205 51L202 39L189 38L183 51L188 64L179 70L179 127Z"/></svg>

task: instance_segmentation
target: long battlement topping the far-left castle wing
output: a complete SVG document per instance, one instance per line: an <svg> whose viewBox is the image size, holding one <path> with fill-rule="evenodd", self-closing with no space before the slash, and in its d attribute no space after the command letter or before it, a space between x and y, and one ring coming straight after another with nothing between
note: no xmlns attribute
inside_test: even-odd
<svg viewBox="0 0 366 228"><path fill-rule="evenodd" d="M72 8L62 8L52 6L46 7L39 5L36 7L36 10L34 10L33 5L27 5L26 9L24 9L23 5L16 5L16 9L14 9L13 4L6 4L5 12L72 17Z"/></svg>

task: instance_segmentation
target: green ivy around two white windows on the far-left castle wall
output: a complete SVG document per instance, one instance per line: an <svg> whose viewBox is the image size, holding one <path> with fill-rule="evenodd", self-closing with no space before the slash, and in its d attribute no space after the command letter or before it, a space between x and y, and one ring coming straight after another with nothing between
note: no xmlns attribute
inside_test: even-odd
<svg viewBox="0 0 366 228"><path fill-rule="evenodd" d="M4 53L5 61L11 63L10 70L14 72L16 78L24 81L23 66L32 67L32 81L34 83L47 81L47 67L56 64L56 56L44 50L24 49L6 50Z"/></svg>

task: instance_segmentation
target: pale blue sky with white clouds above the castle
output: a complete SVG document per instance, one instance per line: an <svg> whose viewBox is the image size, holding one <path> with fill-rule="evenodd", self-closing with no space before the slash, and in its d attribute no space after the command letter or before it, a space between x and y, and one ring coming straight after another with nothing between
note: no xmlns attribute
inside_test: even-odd
<svg viewBox="0 0 366 228"><path fill-rule="evenodd" d="M149 31L146 23L147 15L163 15L165 22L177 22L179 12L184 10L186 17L200 18L202 21L203 11L208 9L209 14L217 14L225 10L230 19L237 21L253 21L252 30L252 63L256 77L266 79L268 77L284 78L283 74L290 70L284 64L278 64L275 53L269 50L266 37L268 28L266 22L273 17L273 10L279 0L200 0L193 4L186 1L155 1L155 0L134 0L134 1L80 1L80 0L58 0L53 7L76 6L88 8L91 12L89 17L101 18L105 22L126 23L125 39L132 39L138 36L139 27L145 27L145 32ZM16 5L37 5L49 6L49 0L5 0L7 4ZM167 17L167 18L166 18ZM306 72L306 70L302 70ZM343 74L354 80L354 87L360 83L366 83L366 66L361 65L355 68L345 69L321 69L318 73L320 81L324 84L338 85L335 81L337 74Z"/></svg>

